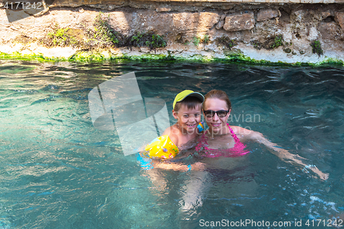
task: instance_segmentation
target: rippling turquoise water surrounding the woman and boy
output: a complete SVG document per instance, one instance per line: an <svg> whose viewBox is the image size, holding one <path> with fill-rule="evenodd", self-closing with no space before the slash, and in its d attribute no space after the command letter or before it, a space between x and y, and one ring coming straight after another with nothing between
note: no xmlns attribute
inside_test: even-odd
<svg viewBox="0 0 344 229"><path fill-rule="evenodd" d="M87 101L129 72L142 97L162 98L169 113L184 89L226 91L231 124L264 133L329 179L254 142L243 158L204 161L206 172L144 170L116 132L93 127ZM211 228L223 219L291 226L213 228L329 228L344 212L343 76L332 67L0 61L0 228Z"/></svg>

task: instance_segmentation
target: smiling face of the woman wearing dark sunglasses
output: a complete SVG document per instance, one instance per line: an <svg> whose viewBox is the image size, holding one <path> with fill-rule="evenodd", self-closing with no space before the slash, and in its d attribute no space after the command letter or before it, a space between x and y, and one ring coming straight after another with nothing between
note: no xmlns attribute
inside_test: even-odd
<svg viewBox="0 0 344 229"><path fill-rule="evenodd" d="M207 98L204 101L204 111L228 111L228 107L226 104L226 101L220 100L218 98ZM204 119L206 120L206 124L208 124L209 130L212 131L212 133L215 134L222 134L227 133L227 120L229 117L230 112L227 113L227 115L224 118L219 118L217 113L214 114L213 117L211 116L204 116Z"/></svg>

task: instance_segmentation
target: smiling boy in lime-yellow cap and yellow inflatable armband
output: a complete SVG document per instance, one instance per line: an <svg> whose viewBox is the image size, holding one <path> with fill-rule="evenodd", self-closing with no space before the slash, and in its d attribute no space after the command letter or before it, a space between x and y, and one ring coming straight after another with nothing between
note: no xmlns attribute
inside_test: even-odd
<svg viewBox="0 0 344 229"><path fill-rule="evenodd" d="M150 157L173 158L179 153L178 147L196 138L203 130L200 123L203 101L202 94L191 90L175 96L172 113L177 123L146 146L145 150Z"/></svg>

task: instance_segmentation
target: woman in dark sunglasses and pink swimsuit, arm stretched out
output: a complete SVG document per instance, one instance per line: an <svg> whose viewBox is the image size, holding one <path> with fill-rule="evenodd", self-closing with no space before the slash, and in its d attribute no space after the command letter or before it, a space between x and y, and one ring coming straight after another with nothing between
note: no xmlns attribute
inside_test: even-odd
<svg viewBox="0 0 344 229"><path fill-rule="evenodd" d="M204 96L203 113L209 129L200 137L196 146L199 155L202 157L241 157L248 153L243 142L251 140L266 145L281 160L303 166L303 169L309 168L321 179L327 179L327 173L319 171L319 168L314 165L304 164L302 160L305 158L279 148L277 144L264 138L261 133L230 126L227 120L231 109L230 100L224 91L212 90Z"/></svg>

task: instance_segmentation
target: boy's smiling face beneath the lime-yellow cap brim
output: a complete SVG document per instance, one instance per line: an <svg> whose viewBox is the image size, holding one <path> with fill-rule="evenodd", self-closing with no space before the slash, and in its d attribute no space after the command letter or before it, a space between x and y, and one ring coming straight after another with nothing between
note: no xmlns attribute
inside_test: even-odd
<svg viewBox="0 0 344 229"><path fill-rule="evenodd" d="M182 129L185 129L188 133L194 133L201 121L201 109L202 105L197 105L195 109L188 109L186 105L181 105L179 111L173 110L172 113Z"/></svg>

